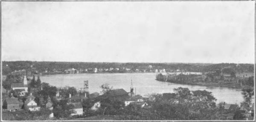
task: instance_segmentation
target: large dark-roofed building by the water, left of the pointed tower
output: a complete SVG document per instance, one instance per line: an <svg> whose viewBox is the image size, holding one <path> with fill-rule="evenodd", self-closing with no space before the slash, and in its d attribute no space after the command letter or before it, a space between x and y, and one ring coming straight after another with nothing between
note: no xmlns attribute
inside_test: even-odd
<svg viewBox="0 0 256 122"><path fill-rule="evenodd" d="M110 96L110 97L121 97L127 99L129 97L128 92L126 92L124 89L114 89L107 91L103 96Z"/></svg>

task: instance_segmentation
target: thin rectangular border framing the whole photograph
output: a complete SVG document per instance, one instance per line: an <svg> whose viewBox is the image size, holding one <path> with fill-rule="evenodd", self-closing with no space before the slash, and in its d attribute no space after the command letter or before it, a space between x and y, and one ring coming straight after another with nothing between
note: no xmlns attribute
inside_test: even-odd
<svg viewBox="0 0 256 122"><path fill-rule="evenodd" d="M2 86L2 2L173 2L173 1L189 1L189 2L211 2L211 1L254 1L254 102L256 102L256 0L0 0L0 85ZM2 87L0 88L1 100L0 100L0 121L1 122L16 122L9 120L2 120ZM254 110L256 106L254 105ZM255 114L255 113L254 113ZM56 121L37 121L37 122L113 122L113 121L146 121L146 122L158 122L158 121L172 121L172 122L244 122L245 120L56 120ZM19 122L34 122L34 121L19 121ZM246 120L246 122L256 122L256 116L253 120Z"/></svg>

